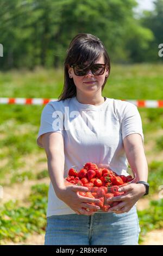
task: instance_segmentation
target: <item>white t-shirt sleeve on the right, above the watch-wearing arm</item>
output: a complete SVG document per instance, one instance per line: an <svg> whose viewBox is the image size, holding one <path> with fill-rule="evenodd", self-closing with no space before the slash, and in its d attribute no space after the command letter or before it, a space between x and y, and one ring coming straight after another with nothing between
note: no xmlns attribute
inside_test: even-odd
<svg viewBox="0 0 163 256"><path fill-rule="evenodd" d="M127 102L126 107L123 109L121 129L122 139L130 134L139 133L144 142L140 113L137 107L132 103Z"/></svg>

